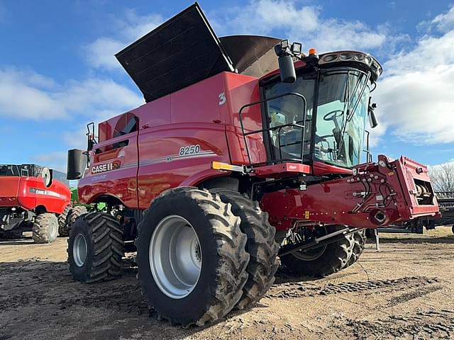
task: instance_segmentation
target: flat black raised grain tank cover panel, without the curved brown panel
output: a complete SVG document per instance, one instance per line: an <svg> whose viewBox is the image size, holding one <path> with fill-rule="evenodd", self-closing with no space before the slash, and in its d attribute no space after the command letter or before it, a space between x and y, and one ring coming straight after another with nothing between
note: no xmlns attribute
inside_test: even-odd
<svg viewBox="0 0 454 340"><path fill-rule="evenodd" d="M235 70L197 3L118 52L116 58L145 101Z"/></svg>

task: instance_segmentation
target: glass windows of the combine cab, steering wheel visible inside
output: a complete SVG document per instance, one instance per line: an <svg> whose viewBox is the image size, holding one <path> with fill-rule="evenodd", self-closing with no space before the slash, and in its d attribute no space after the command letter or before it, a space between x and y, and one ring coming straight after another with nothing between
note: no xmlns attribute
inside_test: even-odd
<svg viewBox="0 0 454 340"><path fill-rule="evenodd" d="M304 160L317 159L348 168L360 164L370 95L369 74L352 68L330 69L316 82L314 74L300 75L293 84L277 83L265 88L267 98L294 92L302 94L307 103L304 115L301 101L295 96L267 102L272 157L301 159L303 154ZM318 96L314 96L316 89ZM273 129L291 123L295 125Z"/></svg>

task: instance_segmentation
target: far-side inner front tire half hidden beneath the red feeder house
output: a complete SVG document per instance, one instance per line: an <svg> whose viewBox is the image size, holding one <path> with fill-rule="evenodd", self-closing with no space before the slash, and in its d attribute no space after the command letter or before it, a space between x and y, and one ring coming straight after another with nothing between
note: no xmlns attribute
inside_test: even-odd
<svg viewBox="0 0 454 340"><path fill-rule="evenodd" d="M331 234L343 226L328 225L326 234ZM317 249L319 251L317 252ZM290 271L300 276L314 276L322 278L340 271L348 263L353 250L353 237L344 237L341 241L327 244L321 248L308 251L296 252L284 255L281 258L282 264Z"/></svg>

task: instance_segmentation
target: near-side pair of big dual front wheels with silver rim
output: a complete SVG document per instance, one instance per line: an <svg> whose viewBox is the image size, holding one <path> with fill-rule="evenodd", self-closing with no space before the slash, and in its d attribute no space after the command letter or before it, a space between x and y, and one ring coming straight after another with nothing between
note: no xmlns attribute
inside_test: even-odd
<svg viewBox="0 0 454 340"><path fill-rule="evenodd" d="M158 318L189 327L260 300L274 281L278 249L273 229L262 222L268 223L266 213L233 191L162 193L136 241L148 306Z"/></svg>

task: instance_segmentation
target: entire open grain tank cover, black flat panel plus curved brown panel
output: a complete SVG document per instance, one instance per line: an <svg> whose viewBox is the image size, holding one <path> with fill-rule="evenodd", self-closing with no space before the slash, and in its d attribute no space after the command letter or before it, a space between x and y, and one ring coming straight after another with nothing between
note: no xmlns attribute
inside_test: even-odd
<svg viewBox="0 0 454 340"><path fill-rule="evenodd" d="M278 68L277 38L232 35L218 38L199 4L116 54L145 101L171 94L220 72L262 77Z"/></svg>

